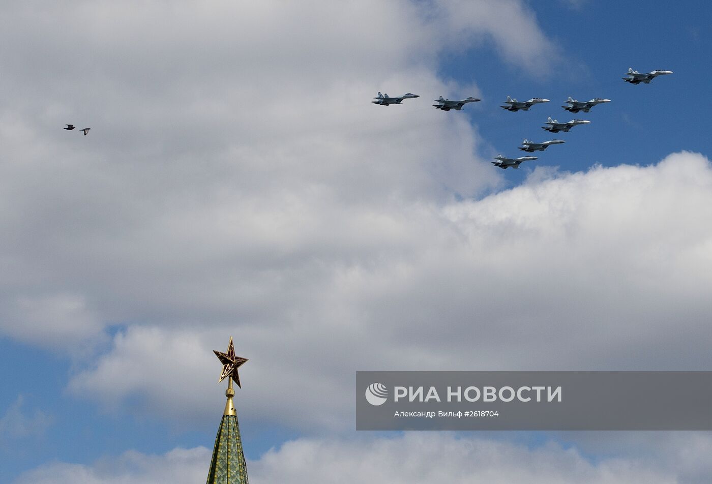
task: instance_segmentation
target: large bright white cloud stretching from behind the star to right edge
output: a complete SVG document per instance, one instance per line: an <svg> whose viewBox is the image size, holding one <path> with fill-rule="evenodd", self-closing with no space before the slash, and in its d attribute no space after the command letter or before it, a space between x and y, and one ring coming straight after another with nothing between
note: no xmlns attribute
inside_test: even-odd
<svg viewBox="0 0 712 484"><path fill-rule="evenodd" d="M234 335L241 411L318 431L350 428L357 370L706 368L711 207L708 160L680 153L352 219L282 270L256 263L243 317L130 326L70 387L205 422L210 350Z"/></svg>

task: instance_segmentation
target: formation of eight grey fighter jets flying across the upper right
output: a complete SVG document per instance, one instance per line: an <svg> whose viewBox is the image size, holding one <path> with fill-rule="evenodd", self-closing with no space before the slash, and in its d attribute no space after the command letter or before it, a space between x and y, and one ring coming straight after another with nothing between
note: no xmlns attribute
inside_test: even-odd
<svg viewBox="0 0 712 484"><path fill-rule="evenodd" d="M649 73L639 73L637 70L633 70L632 68L628 69L628 72L625 74L627 77L624 77L623 80L625 80L627 83L631 84L649 84L651 80L654 78L658 77L659 75L666 75L666 74L671 74L671 70L653 70ZM397 98L390 98L387 94L382 95L381 93L378 93L378 97L374 98L375 101L371 101L374 104L379 104L383 106L388 106L392 104L401 104L401 102L404 99L410 99L410 98L419 98L419 95L417 94L411 94L407 93L402 96L399 96ZM440 96L438 99L435 100L437 104L434 104L433 106L436 109L442 110L442 111L449 111L449 110L456 110L460 111L466 105L468 102L478 102L480 99L478 98L465 98L461 100L449 100L449 99L444 99L442 96ZM511 98L510 96L507 96L507 100L504 102L504 105L501 106L503 110L511 111L511 112L517 112L517 111L528 111L533 105L536 104L543 104L544 102L550 102L548 99L544 98L531 98L528 101L518 101L516 98ZM609 99L605 98L593 98L592 100L588 101L579 101L575 100L571 96L567 100L564 101L565 104L562 105L562 108L564 108L565 111L571 112L573 114L583 111L583 112L590 112L591 109L597 105L604 104L606 102L611 102ZM541 129L548 131L548 132L553 132L557 133L560 131L563 132L569 132L572 127L578 126L578 125L587 125L590 124L589 120L570 120L567 122L558 122L557 120L553 119L552 117L548 117L547 122L544 123L544 126L541 127ZM67 125L66 130L73 130L74 127L73 125ZM86 135L86 130L84 132ZM564 140L548 140L544 142L533 142L530 140L527 140L526 138L524 141L521 143L522 146L518 147L518 149L521 149L524 152L528 153L533 153L535 151L544 151L548 147L550 147L552 144L564 144ZM537 157L532 157L532 156L525 156L525 157L519 157L519 158L507 158L504 157L501 154L498 154L494 159L496 159L496 162L491 162L493 165L496 167L499 167L501 169L507 169L508 167L512 168L519 168L519 165L522 164L522 162L538 159Z"/></svg>

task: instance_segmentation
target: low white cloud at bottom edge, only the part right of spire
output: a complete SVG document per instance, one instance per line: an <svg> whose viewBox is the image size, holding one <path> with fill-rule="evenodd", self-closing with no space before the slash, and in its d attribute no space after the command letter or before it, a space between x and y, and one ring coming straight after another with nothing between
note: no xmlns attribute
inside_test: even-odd
<svg viewBox="0 0 712 484"><path fill-rule="evenodd" d="M256 482L669 483L671 474L625 459L592 464L575 449L526 448L481 438L408 433L375 441L296 441L267 453ZM311 473L308 470L312 470ZM303 476L303 477L300 477Z"/></svg>

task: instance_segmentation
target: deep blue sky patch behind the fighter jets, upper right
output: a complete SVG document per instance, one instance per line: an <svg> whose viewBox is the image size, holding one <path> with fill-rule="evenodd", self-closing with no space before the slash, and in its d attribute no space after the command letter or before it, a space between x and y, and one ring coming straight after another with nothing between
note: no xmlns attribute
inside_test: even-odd
<svg viewBox="0 0 712 484"><path fill-rule="evenodd" d="M543 31L560 49L560 63L547 75L522 73L493 55L491 45L443 56L445 77L471 80L483 92L483 101L469 114L491 142L491 152L483 154L520 154L515 148L523 138L550 135L540 130L548 116L560 121L587 119L592 124L553 136L567 144L548 150L536 164L577 171L596 163L647 164L660 153L681 149L708 153L710 141L702 121L710 107L703 94L707 83L702 61L712 48L712 39L704 34L711 16L708 6L589 1L566 8L565 3L530 3ZM629 67L640 72L669 69L675 75L649 85L629 85L621 79ZM551 102L530 112L511 113L497 107L508 94ZM571 115L560 107L568 96L612 102L588 115ZM513 184L525 177L508 171Z"/></svg>

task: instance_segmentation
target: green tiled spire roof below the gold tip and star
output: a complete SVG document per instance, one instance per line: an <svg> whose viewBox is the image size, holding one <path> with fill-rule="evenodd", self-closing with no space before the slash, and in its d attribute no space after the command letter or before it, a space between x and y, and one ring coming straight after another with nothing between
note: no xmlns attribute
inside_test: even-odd
<svg viewBox="0 0 712 484"><path fill-rule="evenodd" d="M248 484L237 416L224 415L215 438L206 484Z"/></svg>

